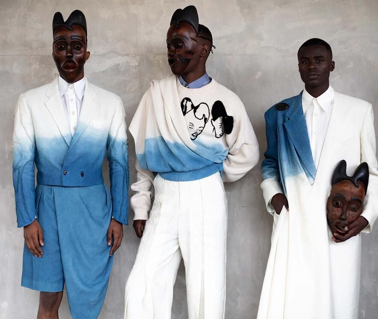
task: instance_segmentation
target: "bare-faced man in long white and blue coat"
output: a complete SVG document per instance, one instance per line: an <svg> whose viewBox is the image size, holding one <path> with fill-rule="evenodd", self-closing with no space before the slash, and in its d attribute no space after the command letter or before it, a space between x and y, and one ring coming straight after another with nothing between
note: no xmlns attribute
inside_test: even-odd
<svg viewBox="0 0 378 319"><path fill-rule="evenodd" d="M324 40L307 40L297 58L305 89L265 113L261 187L274 224L257 319L357 319L360 233L378 214L372 105L330 86L335 62ZM351 172L366 162L370 181L362 214L335 231L326 209L341 159Z"/></svg>

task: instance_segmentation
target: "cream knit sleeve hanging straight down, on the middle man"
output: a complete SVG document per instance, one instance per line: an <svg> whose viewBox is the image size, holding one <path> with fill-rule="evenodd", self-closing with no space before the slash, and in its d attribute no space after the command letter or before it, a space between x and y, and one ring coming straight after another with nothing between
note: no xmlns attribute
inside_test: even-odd
<svg viewBox="0 0 378 319"><path fill-rule="evenodd" d="M151 207L151 199L154 195L153 180L155 175L149 170L142 169L139 166L138 159L135 163L136 182L131 185L131 189L135 194L131 197L131 207L135 213L134 220L148 219L148 211Z"/></svg>

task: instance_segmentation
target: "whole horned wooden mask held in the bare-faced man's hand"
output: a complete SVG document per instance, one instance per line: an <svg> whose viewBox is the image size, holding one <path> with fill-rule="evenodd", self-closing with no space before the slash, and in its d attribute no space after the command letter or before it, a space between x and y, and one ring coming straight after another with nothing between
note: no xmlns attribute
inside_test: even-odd
<svg viewBox="0 0 378 319"><path fill-rule="evenodd" d="M332 234L344 235L345 226L361 215L369 184L369 166L361 163L353 176L346 173L347 163L342 160L333 172L331 192L327 200L327 222Z"/></svg>

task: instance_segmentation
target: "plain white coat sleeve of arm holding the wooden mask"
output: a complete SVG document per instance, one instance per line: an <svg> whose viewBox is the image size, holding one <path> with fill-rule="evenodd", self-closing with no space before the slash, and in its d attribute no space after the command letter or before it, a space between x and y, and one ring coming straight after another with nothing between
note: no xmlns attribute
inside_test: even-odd
<svg viewBox="0 0 378 319"><path fill-rule="evenodd" d="M367 113L361 128L361 162L369 165L369 185L365 197L365 207L362 216L369 221L369 225L363 232L371 232L374 222L378 215L378 163L375 156L375 131L374 131L374 115L372 105L369 104Z"/></svg>

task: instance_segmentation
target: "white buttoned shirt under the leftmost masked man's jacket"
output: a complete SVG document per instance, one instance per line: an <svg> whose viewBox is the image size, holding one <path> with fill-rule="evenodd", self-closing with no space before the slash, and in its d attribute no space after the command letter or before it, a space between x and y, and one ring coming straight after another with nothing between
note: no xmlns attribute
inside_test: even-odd
<svg viewBox="0 0 378 319"><path fill-rule="evenodd" d="M73 136L77 126L77 119L79 119L81 105L83 104L85 77L73 84L69 84L59 75L58 87L67 115L68 125Z"/></svg>

